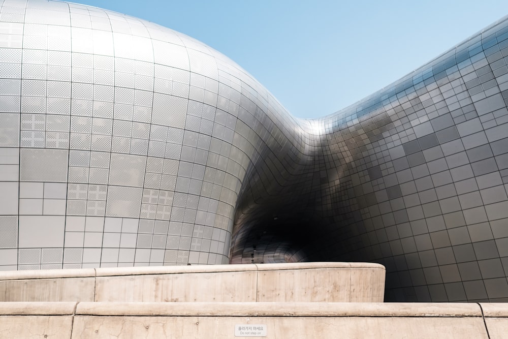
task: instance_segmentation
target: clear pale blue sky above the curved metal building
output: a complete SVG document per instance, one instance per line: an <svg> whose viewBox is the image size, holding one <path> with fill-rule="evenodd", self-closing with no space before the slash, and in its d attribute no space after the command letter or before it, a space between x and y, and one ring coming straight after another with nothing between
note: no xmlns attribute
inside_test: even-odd
<svg viewBox="0 0 508 339"><path fill-rule="evenodd" d="M506 0L77 2L206 43L302 118L345 108L508 15Z"/></svg>

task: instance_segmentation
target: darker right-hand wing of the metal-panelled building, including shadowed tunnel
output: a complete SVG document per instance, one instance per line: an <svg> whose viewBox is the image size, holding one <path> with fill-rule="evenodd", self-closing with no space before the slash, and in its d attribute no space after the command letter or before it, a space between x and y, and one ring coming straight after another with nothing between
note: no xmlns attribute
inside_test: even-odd
<svg viewBox="0 0 508 339"><path fill-rule="evenodd" d="M252 173L232 262L378 262L388 301L508 300L506 39L500 20L359 104L308 121L307 179L282 181L283 162Z"/></svg>

